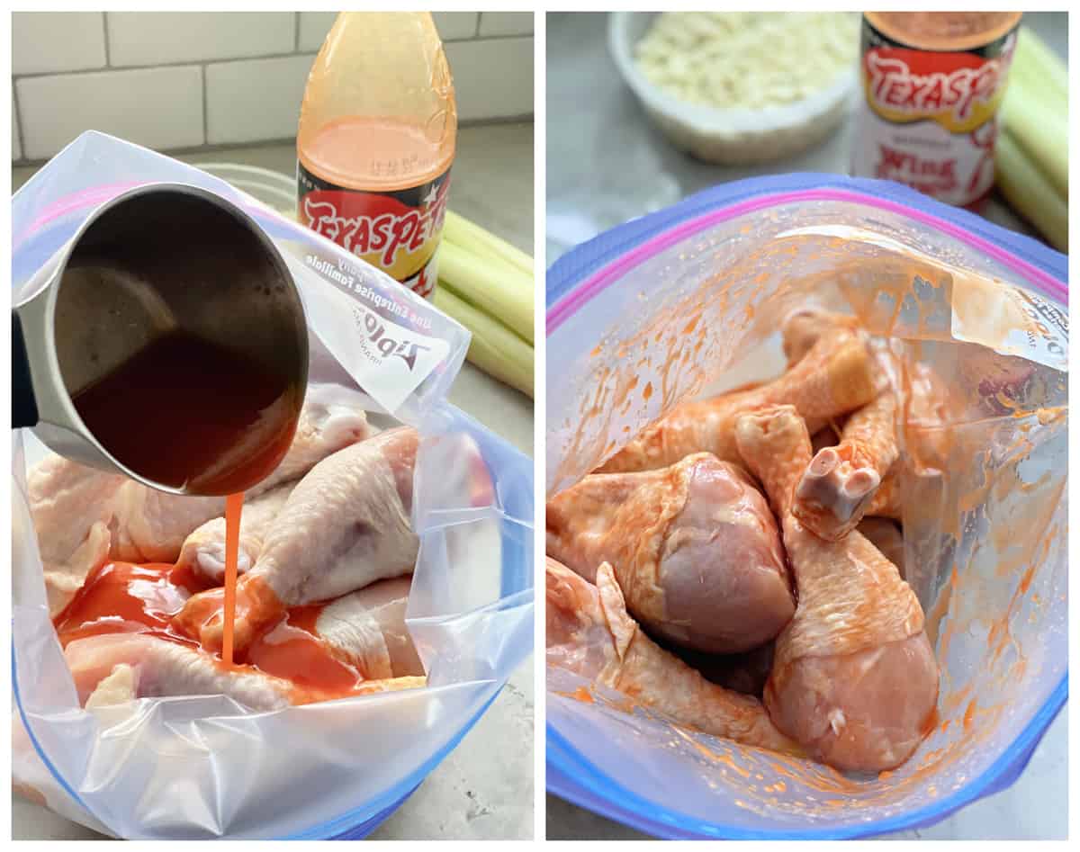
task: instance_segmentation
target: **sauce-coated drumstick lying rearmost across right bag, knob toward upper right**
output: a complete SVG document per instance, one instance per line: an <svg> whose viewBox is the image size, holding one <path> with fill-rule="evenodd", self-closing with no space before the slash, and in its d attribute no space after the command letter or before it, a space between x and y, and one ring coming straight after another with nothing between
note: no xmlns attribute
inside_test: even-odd
<svg viewBox="0 0 1080 852"><path fill-rule="evenodd" d="M865 342L852 332L837 332L818 340L798 364L771 382L676 406L597 472L653 470L674 464L691 452L712 452L721 461L739 463L733 435L739 415L766 405L791 404L816 431L875 395Z"/></svg>

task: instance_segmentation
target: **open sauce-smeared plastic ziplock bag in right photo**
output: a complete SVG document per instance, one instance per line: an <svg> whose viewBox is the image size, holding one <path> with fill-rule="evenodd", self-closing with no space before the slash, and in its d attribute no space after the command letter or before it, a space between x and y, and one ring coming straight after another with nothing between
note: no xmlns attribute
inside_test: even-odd
<svg viewBox="0 0 1080 852"><path fill-rule="evenodd" d="M1030 239L826 175L717 187L561 258L549 496L680 401L779 374L777 329L808 302L902 340L951 414L905 506L941 666L936 727L906 763L846 776L549 666L549 790L665 837L829 838L928 825L1011 784L1067 694L1066 280L1067 258Z"/></svg>

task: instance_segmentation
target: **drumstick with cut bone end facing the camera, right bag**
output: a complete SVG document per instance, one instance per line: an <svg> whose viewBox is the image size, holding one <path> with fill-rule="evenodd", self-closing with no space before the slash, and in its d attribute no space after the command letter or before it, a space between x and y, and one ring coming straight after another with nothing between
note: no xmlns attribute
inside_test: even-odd
<svg viewBox="0 0 1080 852"><path fill-rule="evenodd" d="M847 536L866 513L900 456L896 397L883 390L843 424L840 443L818 450L795 488L795 516L828 541Z"/></svg>

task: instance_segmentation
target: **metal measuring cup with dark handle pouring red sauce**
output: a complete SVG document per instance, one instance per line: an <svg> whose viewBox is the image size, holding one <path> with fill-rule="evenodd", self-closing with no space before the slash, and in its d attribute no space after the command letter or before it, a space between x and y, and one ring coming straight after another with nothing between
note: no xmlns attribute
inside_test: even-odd
<svg viewBox="0 0 1080 852"><path fill-rule="evenodd" d="M303 308L276 247L234 204L185 184L118 194L86 218L28 289L32 295L12 311L13 428L32 427L69 459L173 493L246 490L269 472L265 463L245 466L260 452L267 460L267 442L287 449L307 388ZM245 359L289 391L251 413L252 429L222 448L212 470L160 482L122 458L116 442L106 446L73 400L177 334ZM200 377L186 378L188 387ZM192 400L190 417L214 411ZM177 451L192 422L179 418L175 429L154 435L161 452Z"/></svg>

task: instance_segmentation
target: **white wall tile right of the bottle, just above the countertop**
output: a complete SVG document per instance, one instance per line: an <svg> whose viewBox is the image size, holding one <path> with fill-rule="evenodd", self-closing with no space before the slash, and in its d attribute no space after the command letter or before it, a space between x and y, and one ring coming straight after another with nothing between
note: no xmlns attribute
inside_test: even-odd
<svg viewBox="0 0 1080 852"><path fill-rule="evenodd" d="M446 58L459 121L532 112L531 38L450 42Z"/></svg>

